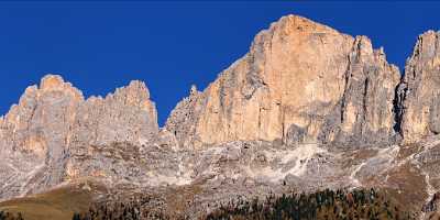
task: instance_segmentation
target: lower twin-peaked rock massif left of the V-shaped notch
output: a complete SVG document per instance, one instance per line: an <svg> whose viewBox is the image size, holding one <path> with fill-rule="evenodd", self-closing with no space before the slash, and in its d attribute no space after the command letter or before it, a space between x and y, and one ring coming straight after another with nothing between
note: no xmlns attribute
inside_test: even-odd
<svg viewBox="0 0 440 220"><path fill-rule="evenodd" d="M47 75L0 120L0 180L6 183L0 194L16 196L75 178L74 170L92 166L74 160L90 145L138 144L157 132L156 109L143 82L85 100L62 77ZM94 165L90 173L105 167Z"/></svg>

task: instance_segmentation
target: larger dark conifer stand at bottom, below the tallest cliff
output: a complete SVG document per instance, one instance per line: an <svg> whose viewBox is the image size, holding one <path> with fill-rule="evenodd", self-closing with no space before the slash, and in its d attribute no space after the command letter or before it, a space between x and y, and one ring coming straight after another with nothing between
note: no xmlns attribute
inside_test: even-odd
<svg viewBox="0 0 440 220"><path fill-rule="evenodd" d="M237 200L222 205L205 217L206 220L308 220L308 219L413 219L409 212L374 189L336 191L326 189L309 195L271 195L264 200Z"/></svg>

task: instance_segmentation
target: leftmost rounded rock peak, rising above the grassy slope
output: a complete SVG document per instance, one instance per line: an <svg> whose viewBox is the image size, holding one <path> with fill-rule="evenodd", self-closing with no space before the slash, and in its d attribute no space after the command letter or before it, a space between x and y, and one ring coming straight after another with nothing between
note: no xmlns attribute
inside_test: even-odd
<svg viewBox="0 0 440 220"><path fill-rule="evenodd" d="M1 183L8 184L4 193L22 194L34 185L54 186L63 180L66 138L82 101L82 94L59 76L48 75L40 88L26 88L19 105L6 114L0 131Z"/></svg>

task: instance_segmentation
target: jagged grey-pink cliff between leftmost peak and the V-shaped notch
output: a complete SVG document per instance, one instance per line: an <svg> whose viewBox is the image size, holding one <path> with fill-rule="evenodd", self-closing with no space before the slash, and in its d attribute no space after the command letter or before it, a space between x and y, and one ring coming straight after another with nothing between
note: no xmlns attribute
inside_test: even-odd
<svg viewBox="0 0 440 220"><path fill-rule="evenodd" d="M132 81L106 98L91 97L77 109L74 145L145 142L158 132L155 105L141 81Z"/></svg>

